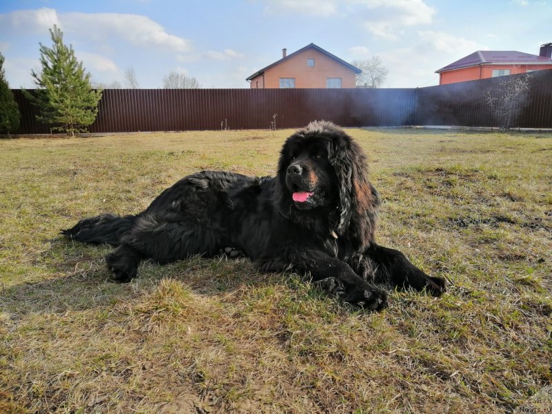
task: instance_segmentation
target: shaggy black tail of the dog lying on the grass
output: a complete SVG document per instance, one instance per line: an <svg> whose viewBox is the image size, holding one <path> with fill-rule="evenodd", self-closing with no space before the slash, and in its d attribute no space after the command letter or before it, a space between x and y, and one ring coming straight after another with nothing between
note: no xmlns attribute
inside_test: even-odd
<svg viewBox="0 0 552 414"><path fill-rule="evenodd" d="M61 230L61 234L77 242L117 246L121 238L130 231L137 216L124 217L114 214L103 214L97 217L81 219L72 228Z"/></svg>

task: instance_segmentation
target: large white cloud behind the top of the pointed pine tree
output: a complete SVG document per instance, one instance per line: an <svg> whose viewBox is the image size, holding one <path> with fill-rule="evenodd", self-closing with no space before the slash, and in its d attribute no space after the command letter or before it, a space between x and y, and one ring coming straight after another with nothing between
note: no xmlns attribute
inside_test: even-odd
<svg viewBox="0 0 552 414"><path fill-rule="evenodd" d="M115 60L118 54L164 51L167 57L193 52L189 39L170 34L159 23L137 14L57 12L52 8L17 10L0 14L0 39L14 39L11 59L23 56L16 52L15 39L38 39L49 45L48 29L56 24L63 30L66 43L75 46L77 59L88 72L100 79L122 76ZM6 49L4 49L6 50ZM25 72L30 72L26 68ZM30 86L28 77L15 75L10 79Z"/></svg>

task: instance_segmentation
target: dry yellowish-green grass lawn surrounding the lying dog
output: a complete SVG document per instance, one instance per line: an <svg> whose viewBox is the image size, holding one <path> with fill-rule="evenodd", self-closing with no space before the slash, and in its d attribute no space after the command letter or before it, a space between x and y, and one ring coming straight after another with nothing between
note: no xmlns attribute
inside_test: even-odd
<svg viewBox="0 0 552 414"><path fill-rule="evenodd" d="M0 140L0 412L503 413L552 380L552 135L349 130L380 244L445 277L355 311L247 259L141 264L58 235L200 169L274 175L290 130Z"/></svg>

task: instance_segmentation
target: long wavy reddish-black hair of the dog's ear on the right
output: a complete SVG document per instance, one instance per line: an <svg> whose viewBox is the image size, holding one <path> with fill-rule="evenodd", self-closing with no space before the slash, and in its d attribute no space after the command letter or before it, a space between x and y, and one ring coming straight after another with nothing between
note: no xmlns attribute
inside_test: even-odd
<svg viewBox="0 0 552 414"><path fill-rule="evenodd" d="M368 179L368 166L362 148L336 127L329 135L328 154L339 180L339 221L337 235L348 235L359 248L367 248L374 238L380 196Z"/></svg>

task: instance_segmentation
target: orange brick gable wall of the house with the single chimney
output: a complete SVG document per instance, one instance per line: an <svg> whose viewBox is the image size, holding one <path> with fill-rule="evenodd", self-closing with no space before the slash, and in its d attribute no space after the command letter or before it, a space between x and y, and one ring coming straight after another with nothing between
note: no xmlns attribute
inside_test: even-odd
<svg viewBox="0 0 552 414"><path fill-rule="evenodd" d="M315 59L307 66L306 59ZM286 61L268 68L263 75L251 79L251 88L279 88L280 78L295 78L295 88L326 88L328 77L341 78L342 88L355 88L355 72L318 50L309 48Z"/></svg>

